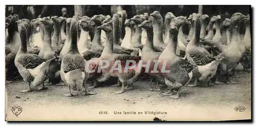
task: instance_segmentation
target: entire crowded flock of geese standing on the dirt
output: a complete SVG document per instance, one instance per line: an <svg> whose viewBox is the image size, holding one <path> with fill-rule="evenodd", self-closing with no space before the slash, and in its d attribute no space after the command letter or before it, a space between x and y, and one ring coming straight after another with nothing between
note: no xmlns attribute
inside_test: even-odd
<svg viewBox="0 0 256 126"><path fill-rule="evenodd" d="M187 36L185 25L190 26ZM247 72L251 66L250 17L241 13L222 19L197 13L176 17L168 12L163 19L154 11L127 19L121 10L112 17L52 16L31 21L14 14L6 17L5 41L6 74L17 71L29 84L21 92L54 84L69 87L65 96L92 95L96 92L90 89L97 83L114 77L113 86L121 86L114 93L120 94L133 89L138 79L150 78L156 86L148 90L161 91L165 86L163 96L178 98L184 86L237 84L230 78L241 77L234 68L241 63ZM108 67L100 65L103 60L109 61ZM135 63L123 72L127 60ZM121 72L111 69L115 61L121 61ZM140 61L148 67L137 69ZM163 66L169 71L163 72ZM99 72L88 72L86 67ZM192 78L193 84L188 84ZM88 79L92 86L86 86Z"/></svg>

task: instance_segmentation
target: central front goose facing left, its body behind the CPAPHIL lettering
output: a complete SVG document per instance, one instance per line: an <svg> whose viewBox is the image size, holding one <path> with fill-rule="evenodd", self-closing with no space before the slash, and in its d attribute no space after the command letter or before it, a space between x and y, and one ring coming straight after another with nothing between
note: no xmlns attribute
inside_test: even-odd
<svg viewBox="0 0 256 126"><path fill-rule="evenodd" d="M114 27L118 27L119 24L115 23L115 20L119 20L118 18L116 18L115 14L113 15L113 25ZM112 75L113 77L118 77L118 83L122 84L121 90L119 91L115 91L115 94L121 94L124 92L124 89L130 90L133 89L132 84L133 82L135 82L140 73L141 73L141 69L137 69L138 67L138 61L140 60L140 57L135 57L135 56L130 56L130 55L125 55L125 54L115 54L113 51L113 30L111 27L110 23L103 23L101 26L98 27L99 29L105 31L106 33L106 41L105 41L105 46L103 49L103 52L101 54L101 57L99 58L99 60L108 60L110 62L109 67L102 69L102 72L106 72L109 73L110 75ZM118 34L118 33L117 33ZM118 37L119 38L119 37ZM124 62L126 62L126 60L134 60L136 61L136 65L135 67L130 67L127 69L127 72L124 72ZM117 72L116 70L112 72L112 66L114 65L115 61L120 61L122 66L121 66L121 71ZM119 70L118 70L119 71ZM124 85L126 85L126 87L124 87Z"/></svg>

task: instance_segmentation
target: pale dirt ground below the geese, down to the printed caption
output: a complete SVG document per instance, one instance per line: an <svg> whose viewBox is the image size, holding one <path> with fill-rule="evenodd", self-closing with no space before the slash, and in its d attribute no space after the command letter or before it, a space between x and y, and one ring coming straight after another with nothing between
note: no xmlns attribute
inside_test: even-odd
<svg viewBox="0 0 256 126"><path fill-rule="evenodd" d="M241 70L241 65L237 71ZM251 74L239 73L241 78L234 85L211 87L184 87L179 99L161 96L148 91L150 80L134 83L133 90L114 94L120 87L101 86L94 89L96 95L65 97L67 86L48 86L48 90L20 93L27 83L17 80L6 84L6 120L87 120L128 121L147 120L155 117L163 120L236 120L251 119ZM21 107L15 116L12 107ZM244 106L245 111L235 111ZM132 114L125 114L125 112ZM153 114L144 111L153 111ZM162 114L155 114L160 111ZM116 114L119 113L120 114ZM135 114L136 112L136 114ZM140 113L142 112L142 113Z"/></svg>

